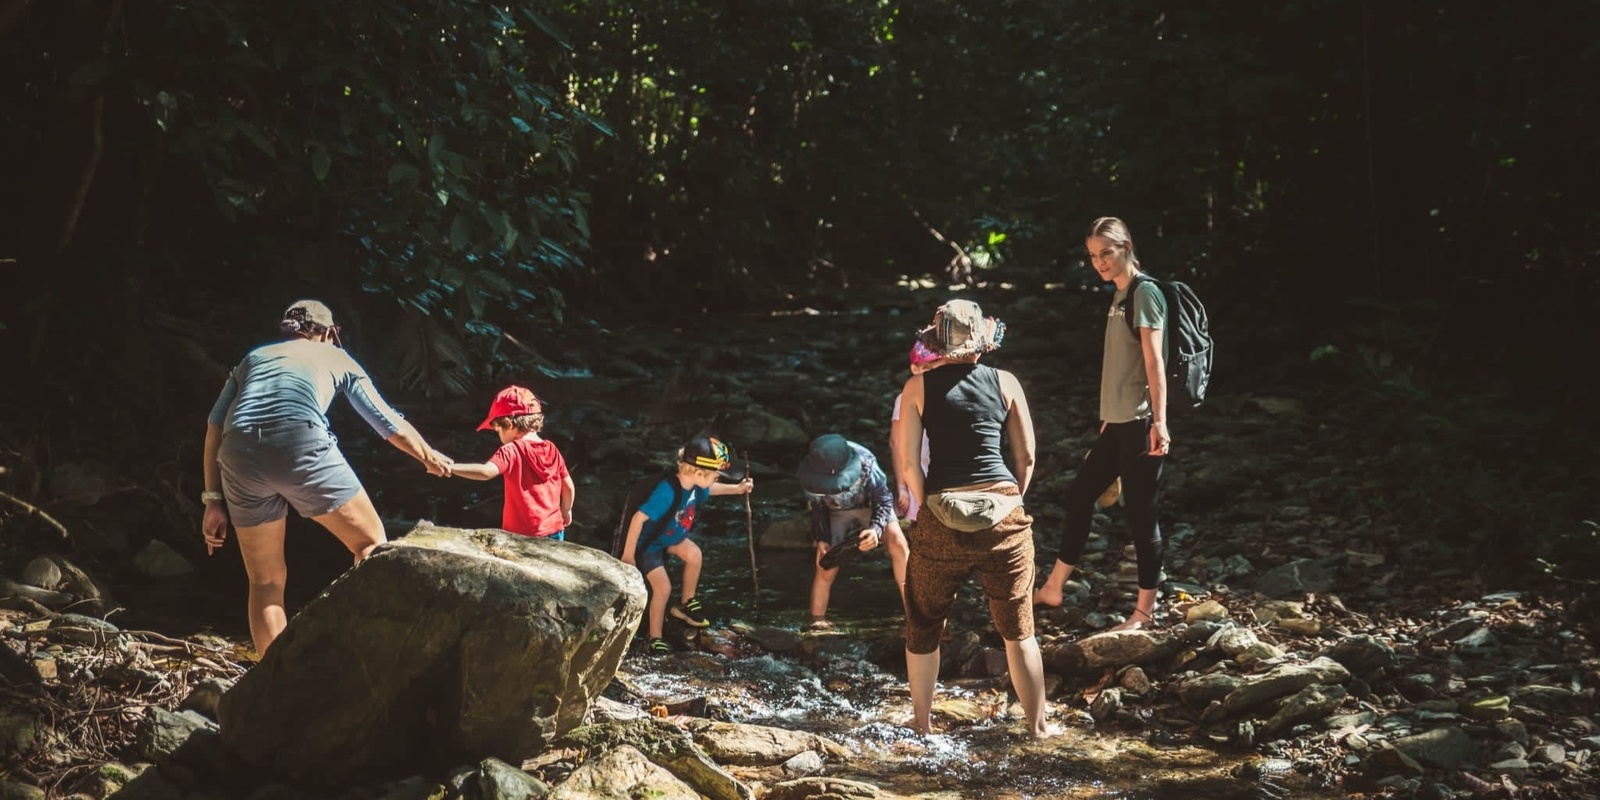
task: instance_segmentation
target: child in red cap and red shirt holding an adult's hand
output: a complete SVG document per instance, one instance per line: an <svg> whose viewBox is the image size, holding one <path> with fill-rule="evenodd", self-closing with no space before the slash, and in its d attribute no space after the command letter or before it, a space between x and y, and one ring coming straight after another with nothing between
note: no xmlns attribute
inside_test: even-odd
<svg viewBox="0 0 1600 800"><path fill-rule="evenodd" d="M533 392L507 386L494 395L490 416L478 430L494 430L499 450L486 464L453 464L451 475L472 480L506 477L506 506L501 528L522 536L566 539L573 523L573 477L552 442L539 438L544 405Z"/></svg>

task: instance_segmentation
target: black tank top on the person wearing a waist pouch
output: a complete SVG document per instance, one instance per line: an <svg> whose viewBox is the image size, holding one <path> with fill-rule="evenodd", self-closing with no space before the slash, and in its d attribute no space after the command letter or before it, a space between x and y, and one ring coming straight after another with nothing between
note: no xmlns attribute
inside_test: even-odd
<svg viewBox="0 0 1600 800"><path fill-rule="evenodd" d="M1016 482L1000 454L1005 429L1000 371L952 363L922 373L922 427L928 432L926 491Z"/></svg>

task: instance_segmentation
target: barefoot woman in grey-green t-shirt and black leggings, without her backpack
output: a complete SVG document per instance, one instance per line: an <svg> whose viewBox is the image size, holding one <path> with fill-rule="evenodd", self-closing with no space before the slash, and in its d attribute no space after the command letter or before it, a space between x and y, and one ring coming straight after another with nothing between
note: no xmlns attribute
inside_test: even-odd
<svg viewBox="0 0 1600 800"><path fill-rule="evenodd" d="M1085 245L1094 272L1117 285L1106 317L1099 438L1067 486L1061 552L1050 578L1034 592L1034 605L1061 605L1062 586L1088 541L1094 499L1122 478L1123 510L1139 558L1139 597L1133 614L1115 630L1131 630L1155 621L1155 592L1162 576L1157 486L1173 445L1166 430L1168 309L1160 286L1139 272L1133 235L1122 219L1096 219Z"/></svg>

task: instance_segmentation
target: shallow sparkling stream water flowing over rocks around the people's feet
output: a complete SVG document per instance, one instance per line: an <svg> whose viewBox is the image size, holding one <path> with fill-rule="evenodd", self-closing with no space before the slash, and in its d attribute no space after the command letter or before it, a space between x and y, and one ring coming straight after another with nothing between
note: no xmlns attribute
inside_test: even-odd
<svg viewBox="0 0 1600 800"><path fill-rule="evenodd" d="M667 635L680 643L680 651L627 659L622 675L642 694L642 704L675 706L706 698L704 714L715 718L827 736L854 757L842 766L829 765L826 774L866 781L893 795L1286 797L1280 782L1259 778L1259 757L1195 746L1160 728L1096 730L1082 710L1082 699L1075 709L1051 699L1051 720L1061 733L1034 741L1024 733L1006 678L941 680L936 707L963 701L955 709L978 718L936 715L938 733L914 734L906 726L910 699L898 662L904 619L888 560L859 557L842 570L829 606L834 630L805 634L794 654L765 653L739 632L754 626L802 630L811 555L760 550L760 595L755 595L744 510L730 509L738 499L718 498L701 517L706 578L699 595L717 624L696 634L669 622ZM970 582L952 613L952 632L984 630L987 606L981 598L976 581ZM1312 789L1304 776L1298 782L1293 797L1342 797Z"/></svg>

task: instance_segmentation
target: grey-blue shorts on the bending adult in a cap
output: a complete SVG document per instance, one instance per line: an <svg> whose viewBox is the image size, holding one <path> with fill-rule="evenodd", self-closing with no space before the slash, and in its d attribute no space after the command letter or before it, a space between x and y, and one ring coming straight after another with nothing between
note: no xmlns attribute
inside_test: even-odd
<svg viewBox="0 0 1600 800"><path fill-rule="evenodd" d="M288 517L320 517L360 494L362 482L318 422L282 421L222 434L222 496L235 526Z"/></svg>

